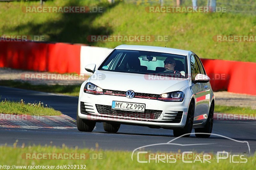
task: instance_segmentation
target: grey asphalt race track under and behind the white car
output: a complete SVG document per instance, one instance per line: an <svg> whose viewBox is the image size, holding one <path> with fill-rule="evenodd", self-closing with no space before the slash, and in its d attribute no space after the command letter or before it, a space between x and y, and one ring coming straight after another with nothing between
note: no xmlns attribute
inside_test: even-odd
<svg viewBox="0 0 256 170"><path fill-rule="evenodd" d="M60 110L76 119L78 97L61 96L31 90L15 89L0 86L1 100L12 101L23 99L28 102L44 102L56 110ZM0 145L10 145L18 139L18 145L52 145L79 148L95 148L96 143L104 150L128 150L146 146L142 150L163 152L220 152L250 153L256 151L256 121L214 120L213 134L210 138L175 138L172 130L151 129L148 127L121 125L117 133L108 133L102 123L96 124L93 132L80 132L77 129L24 129L0 128ZM194 130L192 131L194 132ZM221 136L220 136L221 135ZM235 140L232 140L232 139ZM174 140L173 140L174 139ZM167 142L173 140L169 144ZM241 142L247 141L247 142Z"/></svg>

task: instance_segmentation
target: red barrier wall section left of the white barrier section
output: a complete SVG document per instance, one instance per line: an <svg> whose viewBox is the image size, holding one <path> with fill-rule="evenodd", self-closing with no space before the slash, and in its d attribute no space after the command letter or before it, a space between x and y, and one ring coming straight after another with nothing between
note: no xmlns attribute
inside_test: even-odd
<svg viewBox="0 0 256 170"><path fill-rule="evenodd" d="M80 48L65 43L0 42L0 67L79 74Z"/></svg>

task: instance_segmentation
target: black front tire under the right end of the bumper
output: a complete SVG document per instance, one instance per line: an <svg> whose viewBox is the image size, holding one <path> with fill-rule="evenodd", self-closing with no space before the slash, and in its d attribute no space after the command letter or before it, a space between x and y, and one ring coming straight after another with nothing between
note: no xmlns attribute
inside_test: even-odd
<svg viewBox="0 0 256 170"><path fill-rule="evenodd" d="M191 133L192 128L193 128L193 122L194 122L194 114L195 114L195 106L194 106L194 103L191 102L188 107L188 116L187 116L187 120L186 120L186 124L185 124L184 128L179 129L179 130L173 130L173 136L179 137L181 135ZM190 134L185 135L183 137L189 137L189 136L190 136Z"/></svg>

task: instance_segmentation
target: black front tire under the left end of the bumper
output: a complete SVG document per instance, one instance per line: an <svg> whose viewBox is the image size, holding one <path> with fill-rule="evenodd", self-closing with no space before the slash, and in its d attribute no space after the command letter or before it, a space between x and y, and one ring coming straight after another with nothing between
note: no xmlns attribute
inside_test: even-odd
<svg viewBox="0 0 256 170"><path fill-rule="evenodd" d="M78 108L77 108L77 111L76 111L76 125L77 125L78 131L92 132L95 125L96 125L96 122L86 120L86 119L81 119L78 116Z"/></svg>

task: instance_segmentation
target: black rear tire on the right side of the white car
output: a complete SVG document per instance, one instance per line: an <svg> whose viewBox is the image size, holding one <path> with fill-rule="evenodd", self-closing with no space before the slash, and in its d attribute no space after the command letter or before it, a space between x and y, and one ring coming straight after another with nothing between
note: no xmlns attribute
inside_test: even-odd
<svg viewBox="0 0 256 170"><path fill-rule="evenodd" d="M212 127L213 127L213 113L214 113L214 104L211 104L207 122L204 126L204 128L197 128L195 129L196 133L212 133ZM209 138L211 134L195 134L197 138Z"/></svg>

